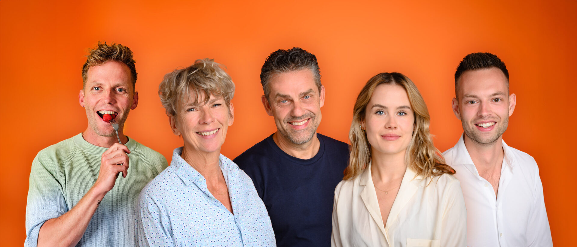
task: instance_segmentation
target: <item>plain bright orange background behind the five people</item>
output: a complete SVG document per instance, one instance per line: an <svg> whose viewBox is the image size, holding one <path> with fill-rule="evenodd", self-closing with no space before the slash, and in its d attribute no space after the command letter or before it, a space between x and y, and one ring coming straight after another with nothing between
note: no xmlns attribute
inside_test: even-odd
<svg viewBox="0 0 577 247"><path fill-rule="evenodd" d="M199 58L228 67L237 90L222 153L276 130L260 102L264 59L302 47L327 89L319 132L347 142L354 100L380 72L417 84L436 146L462 132L451 111L455 67L470 52L507 64L517 107L505 141L537 160L556 246L577 232L577 2L565 1L0 1L0 242L20 246L32 159L84 131L81 66L98 40L132 49L140 102L125 133L170 162L182 145L157 94L163 75Z"/></svg>

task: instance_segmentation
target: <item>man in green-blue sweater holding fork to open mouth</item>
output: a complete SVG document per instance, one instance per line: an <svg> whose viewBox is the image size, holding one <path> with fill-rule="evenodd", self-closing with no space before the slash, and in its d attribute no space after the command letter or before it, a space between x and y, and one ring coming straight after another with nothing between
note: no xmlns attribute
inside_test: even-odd
<svg viewBox="0 0 577 247"><path fill-rule="evenodd" d="M134 246L138 194L168 165L123 132L138 104L132 51L99 42L87 57L78 101L88 127L32 161L25 246Z"/></svg>

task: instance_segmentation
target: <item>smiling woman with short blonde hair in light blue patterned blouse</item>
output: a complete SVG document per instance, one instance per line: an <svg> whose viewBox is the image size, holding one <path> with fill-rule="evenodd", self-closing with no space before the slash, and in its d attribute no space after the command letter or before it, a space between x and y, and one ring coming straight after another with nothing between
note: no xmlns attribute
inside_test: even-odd
<svg viewBox="0 0 577 247"><path fill-rule="evenodd" d="M138 198L138 246L275 246L252 180L220 154L233 124L234 83L212 59L168 73L160 101L184 144Z"/></svg>

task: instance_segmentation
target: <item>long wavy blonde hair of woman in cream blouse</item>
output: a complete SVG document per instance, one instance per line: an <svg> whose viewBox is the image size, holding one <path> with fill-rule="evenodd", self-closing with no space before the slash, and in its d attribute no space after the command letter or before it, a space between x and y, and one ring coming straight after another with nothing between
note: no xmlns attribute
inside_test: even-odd
<svg viewBox="0 0 577 247"><path fill-rule="evenodd" d="M370 78L359 93L353 108L353 123L349 131L351 155L349 166L344 170L344 180L351 180L361 174L371 161L370 143L366 134L361 130L361 123L365 120L366 106L374 90L381 84L399 85L409 96L411 108L415 117L415 128L409 147L405 154L405 164L418 175L423 177L441 176L443 173L455 174L455 170L445 163L441 152L434 147L432 135L429 131L430 116L425 100L419 93L417 86L403 74L380 73Z"/></svg>

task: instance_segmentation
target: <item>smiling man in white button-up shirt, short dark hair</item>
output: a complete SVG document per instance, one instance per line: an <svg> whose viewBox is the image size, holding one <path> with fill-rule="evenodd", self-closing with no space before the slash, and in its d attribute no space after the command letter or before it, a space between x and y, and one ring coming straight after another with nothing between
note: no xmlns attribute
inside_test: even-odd
<svg viewBox="0 0 577 247"><path fill-rule="evenodd" d="M452 108L464 134L443 155L463 190L467 246L553 246L537 163L503 141L515 104L501 59L460 62Z"/></svg>

